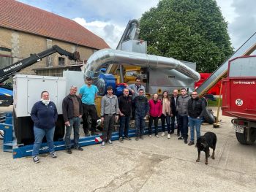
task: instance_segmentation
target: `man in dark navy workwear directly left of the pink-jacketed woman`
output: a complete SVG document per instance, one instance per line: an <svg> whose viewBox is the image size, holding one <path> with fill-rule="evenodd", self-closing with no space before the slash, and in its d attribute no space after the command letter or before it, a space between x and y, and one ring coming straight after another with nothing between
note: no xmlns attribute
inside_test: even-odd
<svg viewBox="0 0 256 192"><path fill-rule="evenodd" d="M145 128L145 117L148 114L148 99L144 96L143 89L139 90L139 96L136 96L135 103L135 128L136 128L136 141L143 139Z"/></svg>

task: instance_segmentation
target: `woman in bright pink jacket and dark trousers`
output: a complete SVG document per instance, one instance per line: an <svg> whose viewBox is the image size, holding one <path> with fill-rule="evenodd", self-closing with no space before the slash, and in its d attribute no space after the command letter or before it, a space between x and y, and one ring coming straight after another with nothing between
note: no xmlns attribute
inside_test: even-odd
<svg viewBox="0 0 256 192"><path fill-rule="evenodd" d="M154 134L158 138L158 119L162 115L162 103L158 99L158 94L154 93L153 98L148 101L149 104L149 123L148 135L152 134L152 123L154 120Z"/></svg>

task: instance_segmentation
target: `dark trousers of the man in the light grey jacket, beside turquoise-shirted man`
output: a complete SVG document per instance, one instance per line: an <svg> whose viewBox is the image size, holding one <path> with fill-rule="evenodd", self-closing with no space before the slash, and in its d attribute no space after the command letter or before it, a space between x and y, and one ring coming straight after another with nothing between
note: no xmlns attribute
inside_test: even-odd
<svg viewBox="0 0 256 192"><path fill-rule="evenodd" d="M107 142L111 140L112 131L115 125L115 115L104 115L102 141Z"/></svg>

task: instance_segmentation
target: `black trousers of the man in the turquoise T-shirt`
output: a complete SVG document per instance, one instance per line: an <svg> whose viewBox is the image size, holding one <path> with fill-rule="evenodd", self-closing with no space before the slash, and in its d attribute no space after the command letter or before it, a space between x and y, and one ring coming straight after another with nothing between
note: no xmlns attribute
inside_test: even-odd
<svg viewBox="0 0 256 192"><path fill-rule="evenodd" d="M96 131L97 110L94 104L83 104L83 131L84 134L89 134L88 116L91 116L91 133Z"/></svg>

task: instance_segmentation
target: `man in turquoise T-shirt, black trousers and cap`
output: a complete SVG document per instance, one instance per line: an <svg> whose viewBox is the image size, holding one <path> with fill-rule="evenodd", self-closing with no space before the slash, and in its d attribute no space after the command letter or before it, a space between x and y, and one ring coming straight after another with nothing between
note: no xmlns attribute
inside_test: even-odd
<svg viewBox="0 0 256 192"><path fill-rule="evenodd" d="M95 107L95 98L97 97L98 88L92 85L91 77L86 77L86 85L80 88L79 96L83 103L83 131L86 137L90 136L88 128L88 116L91 116L91 135L96 134L97 110Z"/></svg>

